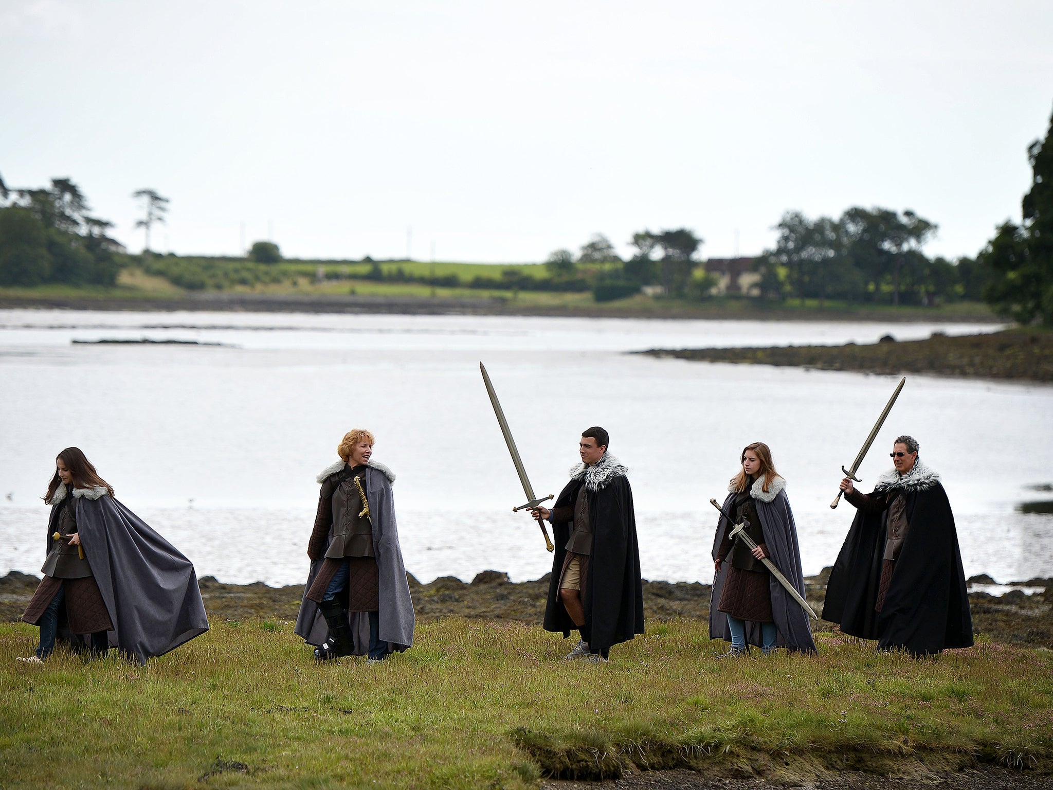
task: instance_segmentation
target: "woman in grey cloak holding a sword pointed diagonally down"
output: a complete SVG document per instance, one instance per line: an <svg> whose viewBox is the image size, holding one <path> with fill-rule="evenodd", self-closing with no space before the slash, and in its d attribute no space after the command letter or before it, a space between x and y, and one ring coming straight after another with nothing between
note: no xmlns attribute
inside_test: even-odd
<svg viewBox="0 0 1053 790"><path fill-rule="evenodd" d="M723 512L713 541L716 575L710 600L710 638L731 643L727 656L746 655L753 644L768 655L776 647L815 651L808 615L772 577L761 561L770 558L798 593L804 594L797 527L786 480L775 471L772 451L762 441L748 445L739 457L741 468L728 486ZM744 524L756 549L728 537Z"/></svg>

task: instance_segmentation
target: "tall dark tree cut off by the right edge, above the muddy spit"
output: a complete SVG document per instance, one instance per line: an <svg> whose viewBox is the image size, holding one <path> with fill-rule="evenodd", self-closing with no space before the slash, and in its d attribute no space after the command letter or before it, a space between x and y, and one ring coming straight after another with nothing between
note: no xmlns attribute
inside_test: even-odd
<svg viewBox="0 0 1053 790"><path fill-rule="evenodd" d="M1031 190L1024 223L1006 222L980 253L990 273L984 298L999 315L1053 327L1053 118L1045 140L1028 147Z"/></svg>

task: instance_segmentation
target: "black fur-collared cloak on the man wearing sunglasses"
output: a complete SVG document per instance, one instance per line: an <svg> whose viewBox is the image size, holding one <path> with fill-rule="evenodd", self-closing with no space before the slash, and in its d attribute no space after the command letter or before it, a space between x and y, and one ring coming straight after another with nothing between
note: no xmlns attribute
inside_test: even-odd
<svg viewBox="0 0 1053 790"><path fill-rule="evenodd" d="M915 461L906 475L892 470L870 496L902 492L909 528L880 612L877 599L886 544L886 514L856 511L827 585L822 618L843 633L877 639L878 648L914 655L973 644L966 574L954 514L939 475ZM851 502L852 499L849 498Z"/></svg>

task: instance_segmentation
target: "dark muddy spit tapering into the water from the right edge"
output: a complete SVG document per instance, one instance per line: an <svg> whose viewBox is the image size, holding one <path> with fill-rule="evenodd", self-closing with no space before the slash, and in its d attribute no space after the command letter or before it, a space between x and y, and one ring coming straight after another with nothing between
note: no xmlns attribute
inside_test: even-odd
<svg viewBox="0 0 1053 790"><path fill-rule="evenodd" d="M882 341L871 345L788 345L771 349L652 349L640 352L707 362L740 362L899 375L934 373L973 378L1053 381L1053 333L1008 330L990 335Z"/></svg>

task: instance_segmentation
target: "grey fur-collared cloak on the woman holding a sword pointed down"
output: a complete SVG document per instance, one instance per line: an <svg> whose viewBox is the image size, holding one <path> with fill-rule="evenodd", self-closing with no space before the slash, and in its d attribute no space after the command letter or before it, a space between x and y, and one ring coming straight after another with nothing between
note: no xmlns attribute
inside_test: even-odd
<svg viewBox="0 0 1053 790"><path fill-rule="evenodd" d="M800 547L797 545L797 525L790 510L790 499L786 492L787 481L776 477L763 490L763 478L757 478L750 495L753 497L757 515L760 517L760 529L764 534L769 559L775 564L794 589L804 597L804 574L800 567ZM731 490L731 487L729 487ZM724 499L724 510L731 512L735 503L735 492L731 490ZM716 560L720 542L724 533L734 528L722 515L717 520L717 532L713 539L713 559ZM713 592L710 599L710 638L731 641L731 628L728 626L728 615L717 611L720 593L723 592L724 579L728 577L730 562L724 562L713 578ZM790 597L790 593L780 585L774 575L769 574L769 587L772 594L772 618L778 636L775 646L792 651L814 653L815 640L812 638L812 627L808 621L808 613L800 604ZM750 645L761 647L763 637L759 623L746 624L746 640Z"/></svg>

